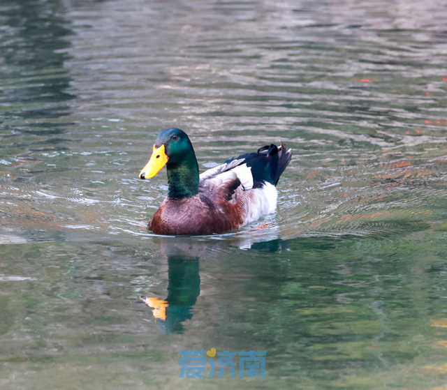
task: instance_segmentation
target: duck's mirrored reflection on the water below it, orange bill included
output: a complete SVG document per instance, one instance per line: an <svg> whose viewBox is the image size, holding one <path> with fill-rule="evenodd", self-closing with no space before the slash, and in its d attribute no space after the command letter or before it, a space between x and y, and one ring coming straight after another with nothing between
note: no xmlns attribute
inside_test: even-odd
<svg viewBox="0 0 447 390"><path fill-rule="evenodd" d="M161 253L168 259L168 297L140 297L152 308L159 329L163 333L183 333L186 320L193 317L193 306L200 295L199 258L217 256L228 246L263 250L270 253L284 248L286 241L274 239L254 243L253 239L229 238L223 240L197 237L156 237ZM258 237L259 239L259 237Z"/></svg>

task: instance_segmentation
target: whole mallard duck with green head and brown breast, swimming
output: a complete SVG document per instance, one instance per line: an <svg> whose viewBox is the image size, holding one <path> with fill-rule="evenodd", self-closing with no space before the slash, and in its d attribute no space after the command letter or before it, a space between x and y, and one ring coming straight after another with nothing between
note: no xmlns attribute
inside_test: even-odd
<svg viewBox="0 0 447 390"><path fill-rule="evenodd" d="M155 234L224 233L273 213L279 177L291 160L284 142L226 160L199 175L188 135L168 128L156 137L140 179L154 177L166 165L168 196L149 221Z"/></svg>

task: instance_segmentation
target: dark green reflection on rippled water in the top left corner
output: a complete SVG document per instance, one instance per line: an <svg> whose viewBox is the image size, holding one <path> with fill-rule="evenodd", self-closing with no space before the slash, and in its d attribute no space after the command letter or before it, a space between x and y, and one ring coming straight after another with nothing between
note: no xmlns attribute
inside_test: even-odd
<svg viewBox="0 0 447 390"><path fill-rule="evenodd" d="M66 123L54 119L68 114L64 102L73 99L67 92L71 77L64 68L72 33L61 16L64 6L37 0L6 0L1 6L0 75L7 85L0 89L0 103L6 106L2 127L13 128L14 135L61 133Z"/></svg>

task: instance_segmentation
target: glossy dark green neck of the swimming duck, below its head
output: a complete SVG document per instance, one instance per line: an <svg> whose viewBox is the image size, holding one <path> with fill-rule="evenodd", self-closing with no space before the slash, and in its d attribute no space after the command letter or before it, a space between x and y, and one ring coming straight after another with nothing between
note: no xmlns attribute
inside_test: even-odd
<svg viewBox="0 0 447 390"><path fill-rule="evenodd" d="M181 163L166 164L168 169L168 197L183 199L198 193L198 164L193 152L186 156Z"/></svg>

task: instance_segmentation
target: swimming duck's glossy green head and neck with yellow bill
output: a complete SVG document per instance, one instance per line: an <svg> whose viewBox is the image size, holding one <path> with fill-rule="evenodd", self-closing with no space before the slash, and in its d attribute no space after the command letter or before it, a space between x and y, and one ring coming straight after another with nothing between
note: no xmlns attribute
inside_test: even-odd
<svg viewBox="0 0 447 390"><path fill-rule="evenodd" d="M198 164L188 135L179 128L163 130L157 137L140 179L150 179L166 165L169 195L185 197L198 192Z"/></svg>

